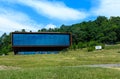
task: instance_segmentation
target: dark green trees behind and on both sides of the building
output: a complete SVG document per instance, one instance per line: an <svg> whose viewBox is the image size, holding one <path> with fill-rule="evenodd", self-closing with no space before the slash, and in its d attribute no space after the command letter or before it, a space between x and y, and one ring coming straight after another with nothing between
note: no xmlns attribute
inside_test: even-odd
<svg viewBox="0 0 120 79"><path fill-rule="evenodd" d="M26 31L22 29L20 32ZM72 49L91 47L97 44L115 44L120 42L120 17L108 19L105 16L99 16L94 21L84 21L70 26L62 25L60 28L54 29L43 28L38 32L69 32L72 34ZM0 53L8 51L12 51L11 33L9 35L5 33L0 37Z"/></svg>

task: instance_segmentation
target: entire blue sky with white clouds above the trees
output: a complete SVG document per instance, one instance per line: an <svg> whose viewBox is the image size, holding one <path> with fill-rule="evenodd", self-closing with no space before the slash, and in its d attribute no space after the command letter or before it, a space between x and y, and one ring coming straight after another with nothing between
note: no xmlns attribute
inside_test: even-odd
<svg viewBox="0 0 120 79"><path fill-rule="evenodd" d="M120 0L0 0L0 35L120 16Z"/></svg>

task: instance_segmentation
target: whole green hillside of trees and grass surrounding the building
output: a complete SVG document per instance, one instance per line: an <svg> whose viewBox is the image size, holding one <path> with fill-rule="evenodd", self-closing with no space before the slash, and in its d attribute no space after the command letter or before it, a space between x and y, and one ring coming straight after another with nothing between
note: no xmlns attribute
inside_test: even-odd
<svg viewBox="0 0 120 79"><path fill-rule="evenodd" d="M120 17L99 16L38 32L70 32L72 46L59 54L14 55L11 33L4 33L0 37L0 79L120 79ZM96 45L103 49L95 50Z"/></svg>

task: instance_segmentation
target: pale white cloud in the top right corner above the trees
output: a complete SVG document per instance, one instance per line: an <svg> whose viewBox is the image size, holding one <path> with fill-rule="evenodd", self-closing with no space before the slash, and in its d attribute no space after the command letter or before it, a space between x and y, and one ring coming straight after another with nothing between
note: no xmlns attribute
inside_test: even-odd
<svg viewBox="0 0 120 79"><path fill-rule="evenodd" d="M100 0L100 5L93 12L97 16L120 16L120 0Z"/></svg>

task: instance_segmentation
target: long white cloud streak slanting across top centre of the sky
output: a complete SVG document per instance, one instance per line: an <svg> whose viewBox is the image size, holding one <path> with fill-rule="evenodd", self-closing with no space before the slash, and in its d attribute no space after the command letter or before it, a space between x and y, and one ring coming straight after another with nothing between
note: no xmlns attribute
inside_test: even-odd
<svg viewBox="0 0 120 79"><path fill-rule="evenodd" d="M85 12L67 7L61 2L50 2L48 0L18 0L20 4L27 5L36 10L40 15L63 21L81 20L86 18Z"/></svg>

